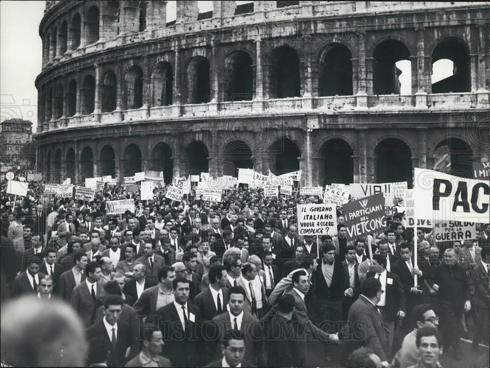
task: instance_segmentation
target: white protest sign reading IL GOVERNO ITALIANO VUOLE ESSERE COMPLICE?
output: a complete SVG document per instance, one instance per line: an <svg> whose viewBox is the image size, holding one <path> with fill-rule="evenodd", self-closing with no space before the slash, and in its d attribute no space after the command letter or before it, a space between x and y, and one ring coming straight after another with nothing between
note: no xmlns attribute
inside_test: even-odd
<svg viewBox="0 0 490 368"><path fill-rule="evenodd" d="M331 204L298 204L298 235L337 235L337 209Z"/></svg>

